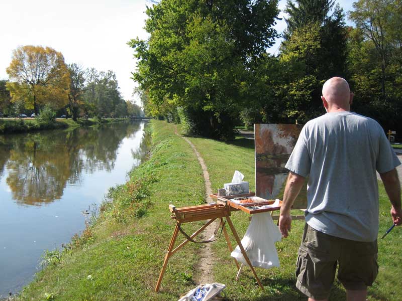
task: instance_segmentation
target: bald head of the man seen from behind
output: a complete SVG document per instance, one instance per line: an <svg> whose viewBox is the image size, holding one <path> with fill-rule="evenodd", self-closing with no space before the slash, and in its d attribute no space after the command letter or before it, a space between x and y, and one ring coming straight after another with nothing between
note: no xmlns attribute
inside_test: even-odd
<svg viewBox="0 0 402 301"><path fill-rule="evenodd" d="M353 93L350 93L349 84L345 79L333 77L325 82L321 98L328 112L349 111Z"/></svg>

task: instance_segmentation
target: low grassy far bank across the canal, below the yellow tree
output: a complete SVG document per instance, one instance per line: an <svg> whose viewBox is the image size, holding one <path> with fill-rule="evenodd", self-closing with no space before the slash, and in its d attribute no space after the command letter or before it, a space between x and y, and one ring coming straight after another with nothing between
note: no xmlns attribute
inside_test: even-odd
<svg viewBox="0 0 402 301"><path fill-rule="evenodd" d="M47 123L38 122L35 118L0 118L0 134L91 126L99 123L118 122L122 120L128 120L128 118L103 118L100 122L96 118L79 118L77 121L71 118L56 118L53 122Z"/></svg>

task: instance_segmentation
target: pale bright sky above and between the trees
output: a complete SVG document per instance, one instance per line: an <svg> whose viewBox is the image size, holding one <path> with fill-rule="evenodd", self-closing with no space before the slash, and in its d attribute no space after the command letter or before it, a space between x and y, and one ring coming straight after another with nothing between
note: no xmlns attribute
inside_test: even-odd
<svg viewBox="0 0 402 301"><path fill-rule="evenodd" d="M352 2L338 1L345 12ZM113 70L125 100L132 96L136 83L130 78L135 70L130 39L148 37L144 28L148 0L13 0L2 1L0 18L0 79L8 79L6 68L13 50L24 45L49 46L63 54L67 64L77 63L99 71ZM279 1L279 9L286 6ZM285 27L279 14L276 30ZM347 21L348 24L350 22ZM277 53L280 41L271 47Z"/></svg>

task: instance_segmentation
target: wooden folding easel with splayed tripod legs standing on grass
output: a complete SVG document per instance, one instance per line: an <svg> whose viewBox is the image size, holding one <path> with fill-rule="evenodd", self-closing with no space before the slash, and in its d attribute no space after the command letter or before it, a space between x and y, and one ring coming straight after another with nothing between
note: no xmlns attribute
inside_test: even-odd
<svg viewBox="0 0 402 301"><path fill-rule="evenodd" d="M193 239L200 232L202 232L205 228L207 228L209 225L211 225L216 219L221 220L220 225L222 226L222 231L223 231L226 241L228 243L229 250L230 250L230 252L232 252L233 247L230 242L230 238L229 238L229 235L226 230L225 223L224 223L224 219L226 220L226 222L229 225L230 230L233 233L233 236L236 239L237 244L239 245L239 248L243 254L244 259L246 260L247 264L250 266L251 271L253 272L254 277L257 280L258 285L261 287L261 289L264 289L264 286L262 285L260 279L258 278L257 273L255 272L255 269L252 266L250 259L247 256L247 253L241 243L240 237L237 234L235 227L233 226L232 220L230 219L231 207L228 204L212 203L212 204L207 204L207 205L182 207L182 208L178 208L178 209L176 209L176 207L174 207L173 205L169 205L169 210L170 210L170 212L172 212L171 217L176 220L176 225L174 227L173 235L172 235L172 238L170 239L169 247L167 249L165 259L163 261L162 270L160 271L158 282L156 283L156 286L155 286L156 292L159 291L159 288L160 288L160 285L162 282L162 278L163 278L163 274L165 273L169 258L190 241L189 239L186 239L181 244L179 244L176 248L174 248L174 244L176 242L176 238L179 233L180 225L182 223L209 220L204 226L202 226L195 233L193 233L192 235L189 236L191 239ZM236 263L237 269L239 270L240 266L236 259L235 259L235 263Z"/></svg>

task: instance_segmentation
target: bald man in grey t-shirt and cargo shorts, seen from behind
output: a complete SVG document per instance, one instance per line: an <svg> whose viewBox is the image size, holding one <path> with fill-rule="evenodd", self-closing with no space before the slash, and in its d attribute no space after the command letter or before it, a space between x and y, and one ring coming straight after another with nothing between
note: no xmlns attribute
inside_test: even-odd
<svg viewBox="0 0 402 301"><path fill-rule="evenodd" d="M298 250L296 287L309 301L327 300L338 279L348 301L365 300L378 273L378 187L381 176L391 202L393 223L402 223L400 165L381 126L350 112L353 93L343 78L323 86L326 114L303 127L285 166L289 176L279 230L290 231L290 207L309 176L306 226Z"/></svg>

